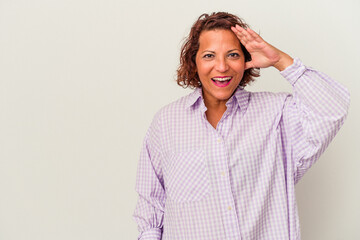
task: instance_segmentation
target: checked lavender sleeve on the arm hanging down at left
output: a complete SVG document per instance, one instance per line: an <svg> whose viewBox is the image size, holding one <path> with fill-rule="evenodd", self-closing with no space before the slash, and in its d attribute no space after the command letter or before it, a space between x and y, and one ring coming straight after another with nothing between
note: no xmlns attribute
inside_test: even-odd
<svg viewBox="0 0 360 240"><path fill-rule="evenodd" d="M146 133L136 179L139 199L134 212L140 240L159 240L162 236L165 191L156 120Z"/></svg>

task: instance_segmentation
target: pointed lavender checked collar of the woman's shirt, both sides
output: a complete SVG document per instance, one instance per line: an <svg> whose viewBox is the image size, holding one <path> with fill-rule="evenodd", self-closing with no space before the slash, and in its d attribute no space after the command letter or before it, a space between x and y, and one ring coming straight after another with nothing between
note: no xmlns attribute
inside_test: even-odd
<svg viewBox="0 0 360 240"><path fill-rule="evenodd" d="M203 100L201 87L196 88L192 93L190 93L186 102L186 107L190 108L196 105L199 99ZM249 104L249 99L250 99L250 92L244 90L244 88L242 87L238 87L235 90L234 95L229 99L228 103L232 104L232 102L236 101L240 107L240 110L245 111Z"/></svg>

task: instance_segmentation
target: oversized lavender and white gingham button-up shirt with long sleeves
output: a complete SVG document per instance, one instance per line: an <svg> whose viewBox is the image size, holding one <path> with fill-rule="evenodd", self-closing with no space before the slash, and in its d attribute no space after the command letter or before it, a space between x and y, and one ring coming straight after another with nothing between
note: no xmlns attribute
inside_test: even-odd
<svg viewBox="0 0 360 240"><path fill-rule="evenodd" d="M134 212L139 239L298 240L295 184L343 124L349 93L299 59L293 94L237 89L214 129L201 89L146 133Z"/></svg>

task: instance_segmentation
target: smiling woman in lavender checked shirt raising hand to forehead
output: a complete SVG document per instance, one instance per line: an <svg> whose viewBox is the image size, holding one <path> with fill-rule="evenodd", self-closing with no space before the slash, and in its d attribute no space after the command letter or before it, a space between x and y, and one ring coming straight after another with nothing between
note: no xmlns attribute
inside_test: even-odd
<svg viewBox="0 0 360 240"><path fill-rule="evenodd" d="M244 90L266 67L293 94ZM145 136L139 239L300 239L295 184L343 124L348 91L221 12L194 23L177 81L195 91Z"/></svg>

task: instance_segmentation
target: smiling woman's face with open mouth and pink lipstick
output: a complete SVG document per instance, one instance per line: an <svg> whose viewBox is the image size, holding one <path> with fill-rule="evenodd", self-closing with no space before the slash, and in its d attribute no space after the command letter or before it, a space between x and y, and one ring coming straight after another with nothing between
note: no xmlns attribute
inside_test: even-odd
<svg viewBox="0 0 360 240"><path fill-rule="evenodd" d="M239 39L231 30L203 31L199 38L196 68L205 104L225 104L244 75L245 56Z"/></svg>

